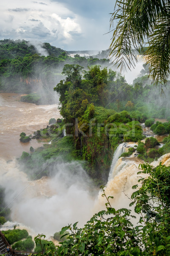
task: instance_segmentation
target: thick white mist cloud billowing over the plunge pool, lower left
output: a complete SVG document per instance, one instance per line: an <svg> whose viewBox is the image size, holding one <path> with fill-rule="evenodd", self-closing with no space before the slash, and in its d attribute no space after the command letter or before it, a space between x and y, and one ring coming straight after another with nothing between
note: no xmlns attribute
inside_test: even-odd
<svg viewBox="0 0 170 256"><path fill-rule="evenodd" d="M0 160L0 185L11 209L11 220L35 233L54 235L68 224L91 218L96 193L80 163L55 163L50 177L29 181L13 160Z"/></svg>

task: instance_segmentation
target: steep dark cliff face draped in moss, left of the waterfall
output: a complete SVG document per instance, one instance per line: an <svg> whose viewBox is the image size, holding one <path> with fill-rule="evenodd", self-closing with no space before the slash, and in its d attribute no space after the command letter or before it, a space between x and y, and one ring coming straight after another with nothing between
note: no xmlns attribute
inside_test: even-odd
<svg viewBox="0 0 170 256"><path fill-rule="evenodd" d="M106 183L113 158L113 148L105 133L96 136L95 133L82 132L75 119L69 120L66 134L74 137L75 148L79 150L82 159L88 163L88 174Z"/></svg>

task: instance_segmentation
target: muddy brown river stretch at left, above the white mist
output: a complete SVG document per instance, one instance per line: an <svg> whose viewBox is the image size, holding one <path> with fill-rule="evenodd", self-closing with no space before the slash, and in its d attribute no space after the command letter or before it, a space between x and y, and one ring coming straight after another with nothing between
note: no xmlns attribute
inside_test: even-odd
<svg viewBox="0 0 170 256"><path fill-rule="evenodd" d="M60 118L58 105L35 105L20 102L18 93L0 93L0 158L11 160L20 157L30 146L40 147L44 142L31 140L20 142L20 133L33 134L45 128L49 119Z"/></svg>

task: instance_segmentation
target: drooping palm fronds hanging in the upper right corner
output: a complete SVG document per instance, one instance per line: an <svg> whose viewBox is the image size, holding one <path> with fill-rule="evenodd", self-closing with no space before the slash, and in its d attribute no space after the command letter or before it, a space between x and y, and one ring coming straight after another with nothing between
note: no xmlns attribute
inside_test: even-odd
<svg viewBox="0 0 170 256"><path fill-rule="evenodd" d="M116 0L111 26L114 22L110 56L122 70L134 67L136 50L142 52L150 77L162 88L170 74L170 1Z"/></svg>

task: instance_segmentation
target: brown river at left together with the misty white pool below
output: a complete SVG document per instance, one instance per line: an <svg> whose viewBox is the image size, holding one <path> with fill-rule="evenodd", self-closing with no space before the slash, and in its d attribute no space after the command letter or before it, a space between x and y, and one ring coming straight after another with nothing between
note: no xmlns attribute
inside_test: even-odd
<svg viewBox="0 0 170 256"><path fill-rule="evenodd" d="M54 235L68 223L85 224L91 218L94 197L89 192L91 182L79 163L60 161L51 170L51 177L33 181L19 170L15 158L23 151L29 152L30 146L37 148L45 143L21 143L20 133L33 134L45 128L49 119L61 117L57 105L35 105L19 99L17 93L0 93L0 185L5 188L12 219L0 229L19 225L27 227L33 236Z"/></svg>

